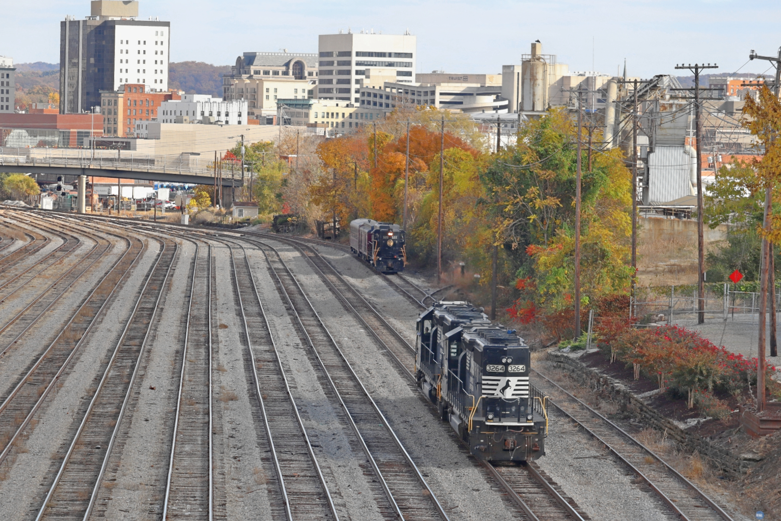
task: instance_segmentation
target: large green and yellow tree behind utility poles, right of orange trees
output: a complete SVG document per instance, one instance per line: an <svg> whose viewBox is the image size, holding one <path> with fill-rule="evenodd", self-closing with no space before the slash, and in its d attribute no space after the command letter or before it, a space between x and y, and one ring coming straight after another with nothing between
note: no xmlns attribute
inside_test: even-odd
<svg viewBox="0 0 781 521"><path fill-rule="evenodd" d="M564 110L551 110L519 130L517 145L497 154L483 176L495 202L495 244L505 244L524 280L520 305L555 312L572 305L576 127ZM583 152L585 153L585 151ZM628 291L631 280L631 175L621 152L594 155L583 171L582 294Z"/></svg>

